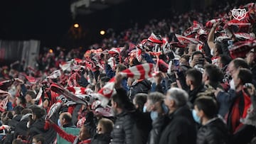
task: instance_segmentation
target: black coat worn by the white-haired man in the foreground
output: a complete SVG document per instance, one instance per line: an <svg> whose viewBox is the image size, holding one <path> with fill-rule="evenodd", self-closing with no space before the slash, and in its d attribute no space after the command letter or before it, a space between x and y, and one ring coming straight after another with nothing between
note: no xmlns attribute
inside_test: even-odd
<svg viewBox="0 0 256 144"><path fill-rule="evenodd" d="M159 144L166 143L196 144L196 123L188 106L182 106L169 115L169 124L159 140Z"/></svg>

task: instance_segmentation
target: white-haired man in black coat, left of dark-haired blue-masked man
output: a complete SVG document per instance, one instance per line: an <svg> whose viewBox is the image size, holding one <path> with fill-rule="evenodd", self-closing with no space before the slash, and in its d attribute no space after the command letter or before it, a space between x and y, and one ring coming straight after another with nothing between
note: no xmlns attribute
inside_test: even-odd
<svg viewBox="0 0 256 144"><path fill-rule="evenodd" d="M187 101L188 94L183 89L168 90L164 103L169 109L169 123L161 133L159 144L196 143L196 124Z"/></svg>

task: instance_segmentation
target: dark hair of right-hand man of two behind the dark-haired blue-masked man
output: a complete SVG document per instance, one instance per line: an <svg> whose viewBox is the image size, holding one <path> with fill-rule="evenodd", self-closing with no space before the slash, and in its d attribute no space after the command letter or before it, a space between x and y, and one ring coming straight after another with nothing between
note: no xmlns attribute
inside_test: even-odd
<svg viewBox="0 0 256 144"><path fill-rule="evenodd" d="M223 79L223 73L216 65L206 65L204 70L208 74L210 82L220 82Z"/></svg>

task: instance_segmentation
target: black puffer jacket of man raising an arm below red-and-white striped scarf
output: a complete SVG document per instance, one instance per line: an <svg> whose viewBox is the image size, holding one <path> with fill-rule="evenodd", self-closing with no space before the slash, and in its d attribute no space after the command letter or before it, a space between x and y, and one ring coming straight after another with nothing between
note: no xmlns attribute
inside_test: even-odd
<svg viewBox="0 0 256 144"><path fill-rule="evenodd" d="M117 120L114 123L114 128L111 133L112 144L134 144L134 119L130 113L123 111L117 115Z"/></svg>

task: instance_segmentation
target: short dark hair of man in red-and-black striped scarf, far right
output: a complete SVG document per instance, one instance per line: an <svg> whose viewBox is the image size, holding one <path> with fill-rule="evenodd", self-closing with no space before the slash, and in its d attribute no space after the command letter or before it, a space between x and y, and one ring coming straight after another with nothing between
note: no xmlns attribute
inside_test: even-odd
<svg viewBox="0 0 256 144"><path fill-rule="evenodd" d="M242 84L252 82L252 72L245 68L240 68L238 72L238 78L241 80Z"/></svg>

